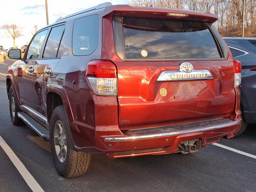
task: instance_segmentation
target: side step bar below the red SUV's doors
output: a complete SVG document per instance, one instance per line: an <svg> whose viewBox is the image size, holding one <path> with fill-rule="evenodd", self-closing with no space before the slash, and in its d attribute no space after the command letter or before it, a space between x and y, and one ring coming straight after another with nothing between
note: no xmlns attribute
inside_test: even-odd
<svg viewBox="0 0 256 192"><path fill-rule="evenodd" d="M28 114L24 112L18 112L18 117L26 123L27 126L32 128L39 136L43 138L45 141L50 140L50 132L44 128L40 123L30 117Z"/></svg>

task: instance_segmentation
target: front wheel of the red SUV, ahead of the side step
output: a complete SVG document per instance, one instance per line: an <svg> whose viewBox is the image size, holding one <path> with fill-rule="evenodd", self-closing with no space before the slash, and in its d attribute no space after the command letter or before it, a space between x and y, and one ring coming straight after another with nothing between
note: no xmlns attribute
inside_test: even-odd
<svg viewBox="0 0 256 192"><path fill-rule="evenodd" d="M18 112L20 112L20 107L16 100L16 95L14 93L14 88L12 85L10 86L10 90L9 90L9 110L10 110L12 124L17 126L24 125L24 122L18 117Z"/></svg>

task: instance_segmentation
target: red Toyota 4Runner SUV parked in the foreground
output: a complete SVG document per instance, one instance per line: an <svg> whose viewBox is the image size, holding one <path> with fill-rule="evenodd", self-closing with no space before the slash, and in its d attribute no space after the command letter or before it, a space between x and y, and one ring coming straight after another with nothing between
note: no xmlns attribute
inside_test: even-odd
<svg viewBox="0 0 256 192"><path fill-rule="evenodd" d="M240 130L241 63L214 14L100 4L39 30L6 76L14 125L50 146L59 174L91 154L191 153Z"/></svg>

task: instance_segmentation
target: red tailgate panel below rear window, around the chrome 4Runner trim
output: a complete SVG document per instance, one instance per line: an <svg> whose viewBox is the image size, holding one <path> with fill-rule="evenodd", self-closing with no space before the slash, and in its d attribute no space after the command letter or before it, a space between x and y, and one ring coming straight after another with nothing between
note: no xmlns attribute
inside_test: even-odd
<svg viewBox="0 0 256 192"><path fill-rule="evenodd" d="M120 128L230 116L236 98L233 63L190 63L194 69L208 69L213 78L158 82L162 71L178 70L179 62L116 62ZM160 95L161 88L166 96Z"/></svg>

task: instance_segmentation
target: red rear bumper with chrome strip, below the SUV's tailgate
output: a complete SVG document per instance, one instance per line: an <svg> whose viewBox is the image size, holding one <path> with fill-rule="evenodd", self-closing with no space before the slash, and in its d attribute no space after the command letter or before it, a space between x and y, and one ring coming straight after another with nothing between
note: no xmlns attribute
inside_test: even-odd
<svg viewBox="0 0 256 192"><path fill-rule="evenodd" d="M210 121L195 122L190 124L174 125L183 127L182 130L168 128L150 128L145 130L122 132L122 135L104 136L104 132L97 132L96 146L98 150L106 154L108 158L121 158L130 156L141 156L148 154L175 153L178 145L184 140L200 139L202 147L219 142L222 137L232 138L240 130L241 119L231 120L222 118L215 121L212 126L204 126ZM198 124L197 128L189 128ZM152 130L162 132L152 133ZM171 130L165 131L164 130ZM150 130L151 133L148 133ZM106 132L105 132L106 134Z"/></svg>

